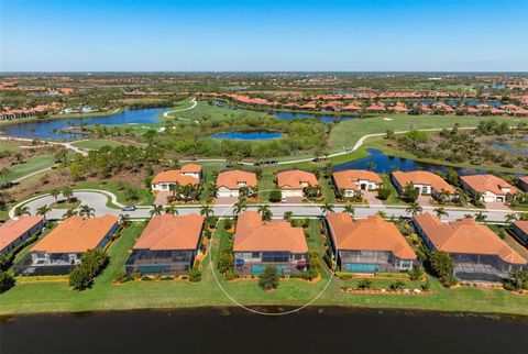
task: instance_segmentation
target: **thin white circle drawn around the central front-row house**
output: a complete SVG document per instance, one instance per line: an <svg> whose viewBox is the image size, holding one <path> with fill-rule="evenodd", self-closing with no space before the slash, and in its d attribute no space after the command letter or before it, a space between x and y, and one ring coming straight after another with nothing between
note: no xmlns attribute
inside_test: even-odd
<svg viewBox="0 0 528 354"><path fill-rule="evenodd" d="M258 195L258 193L261 193L261 192L263 192L263 191L271 191L271 189L260 190L258 192L256 192L256 193L251 193L250 196L255 196L255 195ZM243 198L245 199L245 197L243 197ZM241 200L241 198L239 198L238 200ZM321 210L321 208L319 208L318 206L316 206L316 204L312 203L311 201L310 201L310 203L311 203L312 206L315 206L317 209L319 209L319 211L321 212L321 214L324 215L324 212ZM330 278L328 279L328 281L327 281L327 284L324 285L324 287L322 288L322 290L319 291L319 294L318 294L314 299L311 299L310 301L308 301L307 303L305 303L305 305L302 305L302 306L300 306L300 307L294 308L294 309L292 309L292 310L288 310L288 311L284 311L284 312L262 312L262 311L258 311L258 310L249 308L249 307L246 307L245 305L240 303L237 299L234 299L231 295L229 295L228 291L226 291L226 289L224 289L224 288L222 287L222 285L220 284L220 280L218 279L217 274L216 274L216 272L215 272L215 265L213 265L213 262L212 262L212 239L215 237L215 233L216 233L217 230L218 230L218 223L220 222L220 219L224 218L224 217L226 217L226 213L228 212L228 210L232 209L232 207L233 207L234 204L235 204L235 203L232 203L232 204L230 206L230 208L226 208L226 209L223 210L222 214L218 218L218 221L217 221L217 223L215 224L215 231L211 233L211 237L209 239L209 252L210 252L210 255L209 255L209 266L211 267L212 276L213 276L215 280L217 281L217 285L219 286L220 290L222 290L222 292L223 292L234 305L237 305L237 306L239 306L239 307L241 307L241 308L243 308L243 309L245 309L245 310L248 310L248 311L250 311L250 312L252 312L252 313L263 314L263 316L284 316L284 314L292 314L292 313L298 312L298 311L307 308L308 306L310 306L310 305L312 305L315 301L317 301L317 299L319 299L319 298L321 297L321 295L328 289L328 287L330 286L330 283L332 283L333 275L334 275L334 273L336 273L337 262L333 264L333 267L332 267L332 269L331 269L331 272L330 272ZM329 225L330 225L330 224L329 224ZM331 229L331 228L332 228L332 226L330 225L330 229ZM327 236L329 237L330 235L327 235ZM336 261L337 261L337 256L336 256L336 255L338 254L338 245L336 244L334 246L336 246L336 253L332 253L332 254L333 254L333 256L334 256L334 258L336 258ZM218 248L218 251L217 251L217 255L219 255L219 253L220 253L220 243L219 243L219 248ZM322 256L322 255L320 255L320 256ZM324 262L324 261L323 261L323 262ZM321 270L321 279L322 279L322 272L323 272L323 270Z"/></svg>

